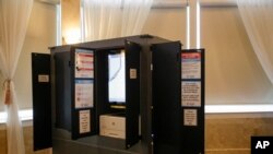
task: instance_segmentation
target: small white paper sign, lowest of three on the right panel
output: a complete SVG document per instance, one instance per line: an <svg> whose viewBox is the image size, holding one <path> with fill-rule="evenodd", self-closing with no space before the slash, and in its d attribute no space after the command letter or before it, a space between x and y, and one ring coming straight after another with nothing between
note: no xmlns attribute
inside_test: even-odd
<svg viewBox="0 0 273 154"><path fill-rule="evenodd" d="M197 109L183 109L183 126L198 126Z"/></svg>

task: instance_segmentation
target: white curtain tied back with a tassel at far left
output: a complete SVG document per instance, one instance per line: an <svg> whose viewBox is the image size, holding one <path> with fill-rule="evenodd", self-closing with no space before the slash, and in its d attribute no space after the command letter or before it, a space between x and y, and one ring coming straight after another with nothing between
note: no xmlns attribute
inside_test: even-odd
<svg viewBox="0 0 273 154"><path fill-rule="evenodd" d="M0 0L0 69L5 79L3 103L8 112L8 154L24 154L24 137L13 76L22 50L33 0Z"/></svg>

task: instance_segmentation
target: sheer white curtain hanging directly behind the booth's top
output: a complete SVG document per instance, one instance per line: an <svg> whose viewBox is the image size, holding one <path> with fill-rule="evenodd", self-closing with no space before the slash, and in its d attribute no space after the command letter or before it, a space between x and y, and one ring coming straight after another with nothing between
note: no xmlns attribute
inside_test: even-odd
<svg viewBox="0 0 273 154"><path fill-rule="evenodd" d="M84 40L138 35L153 0L83 0Z"/></svg>

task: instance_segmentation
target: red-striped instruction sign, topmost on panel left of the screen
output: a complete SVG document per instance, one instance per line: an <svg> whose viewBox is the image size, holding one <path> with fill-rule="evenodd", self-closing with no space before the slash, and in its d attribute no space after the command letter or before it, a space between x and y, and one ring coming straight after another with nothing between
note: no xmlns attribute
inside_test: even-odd
<svg viewBox="0 0 273 154"><path fill-rule="evenodd" d="M75 78L94 78L93 51L75 50Z"/></svg>

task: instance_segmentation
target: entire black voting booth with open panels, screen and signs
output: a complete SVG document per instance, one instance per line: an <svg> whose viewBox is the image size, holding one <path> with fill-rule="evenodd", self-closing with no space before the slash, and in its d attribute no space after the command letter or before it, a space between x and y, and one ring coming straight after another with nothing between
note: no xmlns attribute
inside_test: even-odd
<svg viewBox="0 0 273 154"><path fill-rule="evenodd" d="M34 149L203 154L204 49L181 46L140 35L33 54Z"/></svg>

